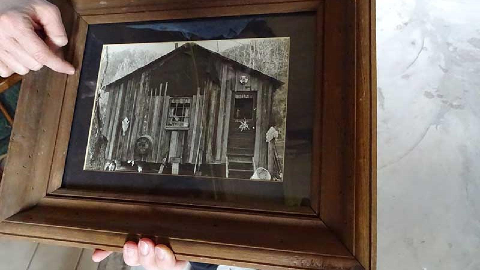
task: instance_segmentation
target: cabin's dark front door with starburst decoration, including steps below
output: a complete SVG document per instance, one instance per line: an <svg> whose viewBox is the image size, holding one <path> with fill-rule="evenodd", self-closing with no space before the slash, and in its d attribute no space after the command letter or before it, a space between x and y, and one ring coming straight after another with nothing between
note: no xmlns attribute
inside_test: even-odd
<svg viewBox="0 0 480 270"><path fill-rule="evenodd" d="M230 178L249 179L253 174L257 92L234 92L228 131L228 162Z"/></svg>

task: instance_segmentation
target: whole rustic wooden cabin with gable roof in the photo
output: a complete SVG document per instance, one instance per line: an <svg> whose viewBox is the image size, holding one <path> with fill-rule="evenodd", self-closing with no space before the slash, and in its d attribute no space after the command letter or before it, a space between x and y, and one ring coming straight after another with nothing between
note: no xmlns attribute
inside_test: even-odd
<svg viewBox="0 0 480 270"><path fill-rule="evenodd" d="M186 43L106 86L106 159L173 164L174 174L249 179L273 162L265 135L275 124L273 95L282 85Z"/></svg>

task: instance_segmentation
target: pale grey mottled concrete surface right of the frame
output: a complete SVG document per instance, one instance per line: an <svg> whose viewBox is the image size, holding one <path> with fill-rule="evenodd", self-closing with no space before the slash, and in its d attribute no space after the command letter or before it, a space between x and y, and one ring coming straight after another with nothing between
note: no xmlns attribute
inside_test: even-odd
<svg viewBox="0 0 480 270"><path fill-rule="evenodd" d="M480 269L480 3L377 0L378 269Z"/></svg>

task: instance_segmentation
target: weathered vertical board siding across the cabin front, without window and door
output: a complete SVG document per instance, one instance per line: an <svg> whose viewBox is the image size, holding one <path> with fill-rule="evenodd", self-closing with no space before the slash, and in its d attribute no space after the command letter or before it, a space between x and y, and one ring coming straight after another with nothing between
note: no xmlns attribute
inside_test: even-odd
<svg viewBox="0 0 480 270"><path fill-rule="evenodd" d="M162 63L161 68L144 69L107 86L109 96L102 130L108 139L106 158L161 163L164 158L175 157L186 164L195 164L197 160L199 163L225 163L234 93L255 91L255 160L257 167L266 167L265 134L270 122L272 84L239 71L227 61L200 55L197 62L202 72L200 86L197 86L192 72L185 71L185 67L186 70L193 68L191 55L182 54L174 61L174 65ZM242 75L249 77L245 85L240 84ZM167 128L170 98L173 97L192 98L190 124L183 130ZM125 117L130 126L122 135ZM143 135L151 136L154 145L151 153L140 157L135 155L135 142Z"/></svg>

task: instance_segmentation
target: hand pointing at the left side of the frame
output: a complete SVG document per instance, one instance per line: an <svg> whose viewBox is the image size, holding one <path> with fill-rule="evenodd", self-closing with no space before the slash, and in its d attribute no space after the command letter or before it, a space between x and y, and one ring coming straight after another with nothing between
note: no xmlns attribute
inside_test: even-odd
<svg viewBox="0 0 480 270"><path fill-rule="evenodd" d="M45 40L37 35L44 32ZM0 0L0 76L43 66L65 74L75 69L57 52L68 39L60 10L46 0Z"/></svg>

